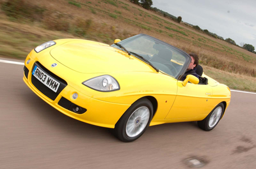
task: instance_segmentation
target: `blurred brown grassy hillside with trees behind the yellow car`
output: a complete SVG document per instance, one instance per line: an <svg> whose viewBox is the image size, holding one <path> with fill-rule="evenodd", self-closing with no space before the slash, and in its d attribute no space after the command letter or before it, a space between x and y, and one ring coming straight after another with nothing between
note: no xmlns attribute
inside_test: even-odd
<svg viewBox="0 0 256 169"><path fill-rule="evenodd" d="M0 0L0 57L22 60L36 46L60 38L111 45L116 38L145 33L198 54L204 72L230 88L256 91L254 47L224 40L152 4L151 0Z"/></svg>

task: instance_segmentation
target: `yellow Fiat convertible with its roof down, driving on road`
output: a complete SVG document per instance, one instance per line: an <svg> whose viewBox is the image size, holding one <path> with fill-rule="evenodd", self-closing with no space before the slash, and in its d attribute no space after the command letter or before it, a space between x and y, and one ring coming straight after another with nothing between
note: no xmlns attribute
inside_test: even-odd
<svg viewBox="0 0 256 169"><path fill-rule="evenodd" d="M96 41L48 41L26 57L24 82L61 113L113 128L123 142L148 126L197 121L213 129L230 103L227 85L202 73L186 72L191 57L146 34L113 45Z"/></svg>

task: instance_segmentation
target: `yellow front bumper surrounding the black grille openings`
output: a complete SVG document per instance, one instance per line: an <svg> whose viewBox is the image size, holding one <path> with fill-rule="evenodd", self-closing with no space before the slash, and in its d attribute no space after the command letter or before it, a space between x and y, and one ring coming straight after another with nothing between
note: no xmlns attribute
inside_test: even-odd
<svg viewBox="0 0 256 169"><path fill-rule="evenodd" d="M74 87L68 85L68 81L67 85L58 94L58 96L56 96L55 99L50 99L49 97L45 96L45 94L43 94L40 90L38 90L31 81L31 77L33 76L33 65L35 64L35 62L36 61L34 59L31 59L29 65L26 65L25 61L26 68L24 68L24 70L26 71L24 71L24 82L33 92L35 92L36 95L42 98L46 103L59 110L61 113L68 115L69 117L86 122L88 124L93 124L95 126L115 128L116 122L131 106L120 103L109 103L107 101L101 101L99 99L86 96L86 94L83 94L77 89L74 89ZM74 94L75 92L78 94L77 99L72 98L72 94ZM78 105L79 107L85 108L86 112L84 112L83 114L77 114L76 112L68 110L67 107L64 108L63 105L60 106L59 101L61 100L61 98L67 99L73 105Z"/></svg>

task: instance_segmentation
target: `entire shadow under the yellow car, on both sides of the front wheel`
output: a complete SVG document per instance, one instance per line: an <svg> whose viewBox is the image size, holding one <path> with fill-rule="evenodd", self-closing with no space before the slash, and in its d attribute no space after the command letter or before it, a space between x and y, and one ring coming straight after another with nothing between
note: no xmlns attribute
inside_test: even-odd
<svg viewBox="0 0 256 169"><path fill-rule="evenodd" d="M78 137L93 138L96 140L104 138L104 140L108 139L111 142L119 142L113 135L113 129L102 128L72 119L51 107L33 92L26 93L26 98L26 104L31 115L36 115L36 118L46 123L47 126L65 132L67 135L76 135ZM149 127L146 135L154 135L154 133L158 133L159 135L163 133L164 135L166 132L177 133L188 130L196 131L200 129L197 127L196 122L169 123Z"/></svg>

